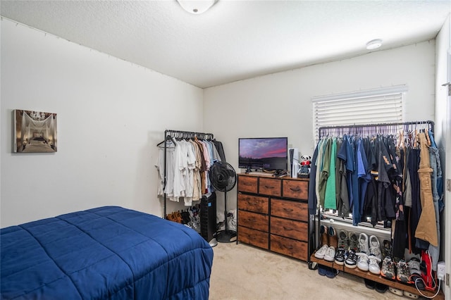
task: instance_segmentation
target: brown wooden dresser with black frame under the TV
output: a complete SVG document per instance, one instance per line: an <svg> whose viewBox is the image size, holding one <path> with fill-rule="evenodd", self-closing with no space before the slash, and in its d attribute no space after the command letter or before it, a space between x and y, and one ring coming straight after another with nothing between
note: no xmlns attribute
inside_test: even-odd
<svg viewBox="0 0 451 300"><path fill-rule="evenodd" d="M238 175L238 242L307 261L308 179Z"/></svg>

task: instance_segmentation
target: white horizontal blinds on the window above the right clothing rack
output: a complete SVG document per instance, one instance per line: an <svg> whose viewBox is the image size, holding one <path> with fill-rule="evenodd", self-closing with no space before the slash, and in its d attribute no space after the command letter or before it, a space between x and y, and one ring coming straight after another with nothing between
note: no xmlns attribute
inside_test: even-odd
<svg viewBox="0 0 451 300"><path fill-rule="evenodd" d="M362 125L403 122L404 93L397 86L346 94L316 96L313 102L314 137L319 128L338 125Z"/></svg>

